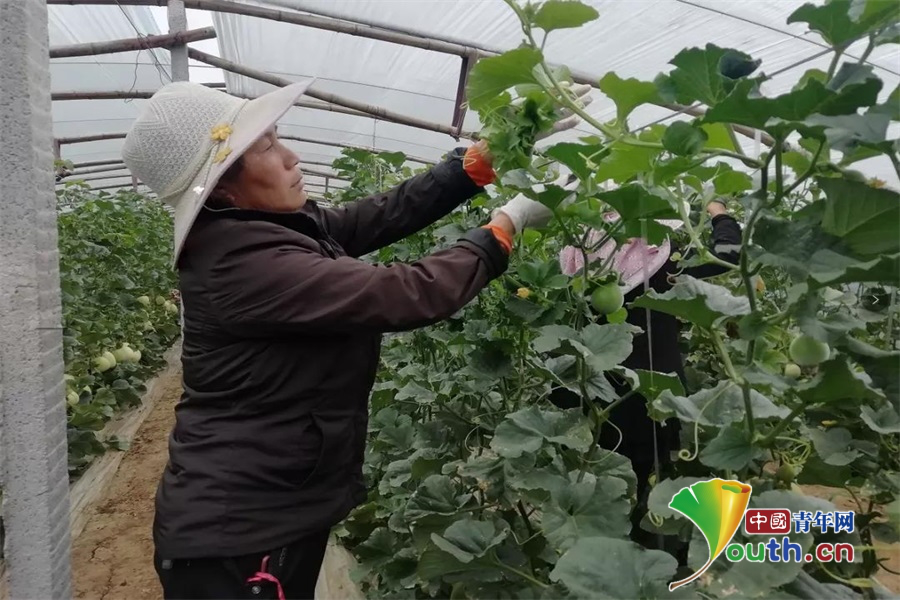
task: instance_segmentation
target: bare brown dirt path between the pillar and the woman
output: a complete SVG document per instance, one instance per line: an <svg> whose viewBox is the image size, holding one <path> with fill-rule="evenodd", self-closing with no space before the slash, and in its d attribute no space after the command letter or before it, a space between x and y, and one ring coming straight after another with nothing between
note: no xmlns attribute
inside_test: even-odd
<svg viewBox="0 0 900 600"><path fill-rule="evenodd" d="M168 377L156 406L125 453L106 493L89 510L72 544L75 597L156 600L162 589L153 570L153 499L166 464L181 377Z"/></svg>

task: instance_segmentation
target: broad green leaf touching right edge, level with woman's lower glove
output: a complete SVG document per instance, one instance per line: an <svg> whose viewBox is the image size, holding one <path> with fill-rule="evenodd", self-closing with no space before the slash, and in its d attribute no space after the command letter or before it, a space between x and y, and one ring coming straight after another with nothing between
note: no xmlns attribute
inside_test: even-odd
<svg viewBox="0 0 900 600"><path fill-rule="evenodd" d="M900 194L847 179L816 182L827 198L824 231L860 254L900 252Z"/></svg>

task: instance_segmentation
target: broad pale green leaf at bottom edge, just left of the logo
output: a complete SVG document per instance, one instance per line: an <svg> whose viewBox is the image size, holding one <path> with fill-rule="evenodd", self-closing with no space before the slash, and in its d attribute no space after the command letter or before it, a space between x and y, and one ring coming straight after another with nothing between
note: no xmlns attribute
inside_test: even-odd
<svg viewBox="0 0 900 600"><path fill-rule="evenodd" d="M661 550L645 550L624 540L579 539L556 563L551 581L576 598L667 598L678 561Z"/></svg>

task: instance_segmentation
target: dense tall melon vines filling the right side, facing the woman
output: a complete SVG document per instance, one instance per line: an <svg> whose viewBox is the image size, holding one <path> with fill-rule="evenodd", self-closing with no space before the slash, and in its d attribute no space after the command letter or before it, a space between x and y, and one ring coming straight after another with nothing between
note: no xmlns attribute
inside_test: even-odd
<svg viewBox="0 0 900 600"><path fill-rule="evenodd" d="M900 120L898 92L864 64L874 48L900 40L895 5L798 9L789 22L806 23L833 60L780 96L765 94L760 61L708 45L678 53L652 82L607 74L599 87L617 112L598 122L571 99L566 69L550 68L541 52L554 30L600 18L594 9L508 3L524 42L476 65L469 103L486 126L501 192L525 193L555 219L527 232L509 274L455 318L387 341L372 399L371 492L340 532L360 560L364 588L379 598L881 595L876 550L898 540L900 512L900 198L852 167L885 154L900 171L900 148L886 139ZM845 56L859 40L861 59ZM697 103L705 114L631 132L629 115L647 103ZM595 134L533 153L536 134L562 108L582 113ZM774 143L746 155L735 126ZM354 161L365 168L342 199L377 185L373 173L385 186L401 179L395 158L347 157L348 174ZM552 183L554 162L578 177L574 194ZM591 228L618 242L641 235L657 243L667 231L658 220L681 219L675 241L685 265L715 262L703 212L713 196L733 199L744 231L740 263L725 263L728 272L713 280L679 276L671 291L630 307L690 324L684 389L674 374L621 366L642 332L618 311L598 317L589 309L610 274L593 265L564 276L557 255L566 244L595 250ZM375 258L406 260L448 243L484 222L486 203L476 199L450 224ZM604 220L610 210L621 219ZM629 540L629 461L594 443L611 407L626 399L613 377L628 378L654 418L683 424L676 476L654 482L641 527L690 542L690 571L706 562L706 543L667 505L710 476L752 483L751 507L833 510L806 495L806 484L849 494L856 532L790 537L804 552L814 541L852 543L857 561L722 560L670 594L676 559ZM586 410L555 408L553 387L579 394Z"/></svg>

